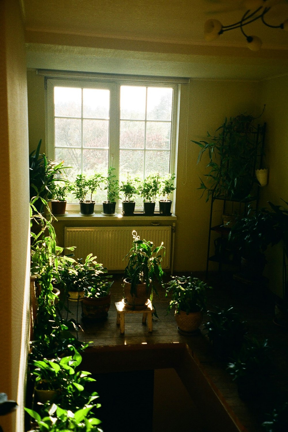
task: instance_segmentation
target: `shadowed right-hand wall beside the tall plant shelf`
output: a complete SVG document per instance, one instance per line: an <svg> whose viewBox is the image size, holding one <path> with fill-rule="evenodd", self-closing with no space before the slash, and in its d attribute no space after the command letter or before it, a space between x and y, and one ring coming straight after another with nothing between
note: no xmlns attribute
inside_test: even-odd
<svg viewBox="0 0 288 432"><path fill-rule="evenodd" d="M263 81L260 86L262 103L266 103L263 114L267 122L266 132L266 165L269 168L269 181L263 187L260 206L268 207L267 201L284 205L288 201L287 178L287 143L288 143L288 76L280 76ZM269 278L269 288L282 296L282 245L276 245L267 251L268 264L265 275Z"/></svg>

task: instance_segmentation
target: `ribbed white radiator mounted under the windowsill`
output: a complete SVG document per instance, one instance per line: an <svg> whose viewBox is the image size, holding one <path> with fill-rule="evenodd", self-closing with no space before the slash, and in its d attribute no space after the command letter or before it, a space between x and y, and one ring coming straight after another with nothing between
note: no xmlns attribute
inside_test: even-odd
<svg viewBox="0 0 288 432"><path fill-rule="evenodd" d="M169 269L171 226L65 227L65 248L76 246L75 259L92 253L108 270L124 270L127 259L123 258L132 247L133 230L141 239L153 241L155 247L163 241L165 257L162 254L161 265L163 269Z"/></svg>

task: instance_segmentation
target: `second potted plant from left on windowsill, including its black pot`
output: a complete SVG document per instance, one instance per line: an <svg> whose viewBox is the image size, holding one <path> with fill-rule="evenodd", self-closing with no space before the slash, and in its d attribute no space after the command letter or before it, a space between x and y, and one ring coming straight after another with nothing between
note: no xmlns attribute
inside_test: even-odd
<svg viewBox="0 0 288 432"><path fill-rule="evenodd" d="M80 214L92 215L94 214L95 201L92 200L92 196L95 190L99 187L103 181L101 174L93 174L87 177L85 174L76 175L76 179L71 186L73 195L79 200Z"/></svg>

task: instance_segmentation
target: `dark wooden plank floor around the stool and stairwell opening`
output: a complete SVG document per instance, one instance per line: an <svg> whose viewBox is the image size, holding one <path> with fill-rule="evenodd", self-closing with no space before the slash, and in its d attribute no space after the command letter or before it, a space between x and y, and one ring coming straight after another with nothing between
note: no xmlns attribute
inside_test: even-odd
<svg viewBox="0 0 288 432"><path fill-rule="evenodd" d="M193 276L205 280L204 273L193 273ZM247 320L250 334L268 339L272 347L272 362L275 365L273 371L275 386L279 388L279 394L288 394L286 392L288 389L288 333L286 329L273 324L274 303L272 295L264 287L242 285L233 280L232 275L224 276L220 273L211 273L206 282L213 287L209 292L208 304L210 309L213 309L214 306L222 308L229 305L234 306L243 319ZM122 298L122 275L114 275L114 284L111 289L111 308L106 321L96 324L82 322L81 305L79 305L79 340L91 342L91 346L99 347L186 343L244 427L249 432L263 431L261 427L261 422L265 420L263 410L268 411L270 407L264 409L256 402L251 405L251 403L245 403L239 398L237 386L225 370L225 365L218 362L213 356L203 325L199 332L193 336L181 335L177 330L173 312L167 314L168 299L165 298L165 292L162 289L159 296L155 296L153 300L159 319L153 318L152 333L148 332L147 325L142 324L141 314L126 314L125 333L120 335L120 327L116 324L117 311L114 303L119 302ZM68 318L76 319L76 304L73 303L69 306L72 313L69 314ZM204 316L204 322L205 319Z"/></svg>

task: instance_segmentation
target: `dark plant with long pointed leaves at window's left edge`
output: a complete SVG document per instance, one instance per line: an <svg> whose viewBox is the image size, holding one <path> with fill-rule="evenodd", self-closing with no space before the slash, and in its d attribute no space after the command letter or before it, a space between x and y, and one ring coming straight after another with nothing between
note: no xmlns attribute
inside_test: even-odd
<svg viewBox="0 0 288 432"><path fill-rule="evenodd" d="M45 203L42 201L49 200L52 197L53 187L59 181L67 181L65 178L65 169L63 161L53 162L47 160L45 154L40 153L41 140L36 150L29 155L29 181L30 181L30 200L33 201L36 212L42 212Z"/></svg>

